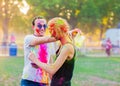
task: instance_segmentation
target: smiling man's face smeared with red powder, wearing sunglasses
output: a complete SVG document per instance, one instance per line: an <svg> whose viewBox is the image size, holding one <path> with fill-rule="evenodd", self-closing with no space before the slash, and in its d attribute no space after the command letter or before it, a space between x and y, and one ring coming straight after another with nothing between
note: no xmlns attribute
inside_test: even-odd
<svg viewBox="0 0 120 86"><path fill-rule="evenodd" d="M36 19L35 20L34 29L35 29L35 33L38 36L43 36L46 28L47 28L47 25L46 25L46 20L45 19Z"/></svg>

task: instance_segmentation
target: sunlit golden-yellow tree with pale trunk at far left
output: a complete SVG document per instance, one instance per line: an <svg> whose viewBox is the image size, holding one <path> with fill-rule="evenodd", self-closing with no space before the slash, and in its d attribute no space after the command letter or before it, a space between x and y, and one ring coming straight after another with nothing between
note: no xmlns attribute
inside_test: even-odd
<svg viewBox="0 0 120 86"><path fill-rule="evenodd" d="M2 0L0 4L0 23L3 31L3 39L7 42L9 31L12 28L15 31L19 31L19 29L28 25L26 21L29 18L26 18L24 15L29 10L29 6L25 0Z"/></svg>

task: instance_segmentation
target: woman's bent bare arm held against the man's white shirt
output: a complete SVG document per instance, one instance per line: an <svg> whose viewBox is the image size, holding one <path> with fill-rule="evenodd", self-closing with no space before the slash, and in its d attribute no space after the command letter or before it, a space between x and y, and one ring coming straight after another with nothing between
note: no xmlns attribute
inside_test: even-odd
<svg viewBox="0 0 120 86"><path fill-rule="evenodd" d="M61 49L60 55L57 57L56 61L53 64L46 64L40 62L33 53L30 53L29 59L38 65L40 68L44 69L49 74L53 75L55 72L63 65L70 53L70 45L66 44Z"/></svg>

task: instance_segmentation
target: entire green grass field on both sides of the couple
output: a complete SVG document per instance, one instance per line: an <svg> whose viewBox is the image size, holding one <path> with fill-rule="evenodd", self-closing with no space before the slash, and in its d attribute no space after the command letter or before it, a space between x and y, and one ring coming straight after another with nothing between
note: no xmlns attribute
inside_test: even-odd
<svg viewBox="0 0 120 86"><path fill-rule="evenodd" d="M23 65L23 57L0 57L0 86L19 86ZM72 86L120 86L120 58L77 56Z"/></svg>

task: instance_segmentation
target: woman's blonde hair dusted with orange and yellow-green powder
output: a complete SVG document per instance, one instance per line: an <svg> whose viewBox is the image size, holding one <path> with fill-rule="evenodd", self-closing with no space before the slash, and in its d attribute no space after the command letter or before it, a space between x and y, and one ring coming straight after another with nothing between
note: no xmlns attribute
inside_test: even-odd
<svg viewBox="0 0 120 86"><path fill-rule="evenodd" d="M50 31L56 31L56 34L63 34L67 33L69 30L69 24L68 22L61 18L61 17L55 17L48 22L48 29Z"/></svg>

